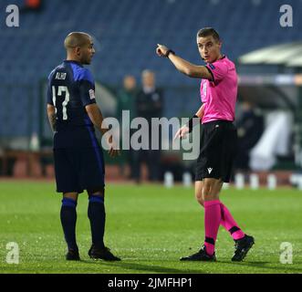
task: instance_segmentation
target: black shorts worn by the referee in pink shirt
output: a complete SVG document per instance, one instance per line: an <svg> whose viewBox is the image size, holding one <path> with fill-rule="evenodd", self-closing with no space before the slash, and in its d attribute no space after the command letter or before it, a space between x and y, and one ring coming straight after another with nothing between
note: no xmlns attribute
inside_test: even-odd
<svg viewBox="0 0 302 292"><path fill-rule="evenodd" d="M195 181L214 178L229 183L236 149L237 130L232 121L214 120L204 123Z"/></svg>

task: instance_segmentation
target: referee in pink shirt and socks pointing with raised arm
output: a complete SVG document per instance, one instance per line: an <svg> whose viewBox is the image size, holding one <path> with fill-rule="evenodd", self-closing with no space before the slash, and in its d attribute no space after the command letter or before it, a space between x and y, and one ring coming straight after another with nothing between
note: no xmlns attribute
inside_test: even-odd
<svg viewBox="0 0 302 292"><path fill-rule="evenodd" d="M167 57L184 75L201 78L200 95L203 105L193 118L203 124L201 150L197 159L195 197L204 207L205 238L203 247L195 254L182 257L183 261L215 261L214 246L219 225L232 235L235 244L233 261L242 261L254 245L254 238L241 230L230 211L219 199L224 183L230 181L237 132L234 110L237 97L237 74L234 63L221 53L222 42L212 27L197 33L198 51L206 62L197 66L177 56L172 49L158 44L156 53ZM175 138L185 137L193 129L196 119L177 131Z"/></svg>

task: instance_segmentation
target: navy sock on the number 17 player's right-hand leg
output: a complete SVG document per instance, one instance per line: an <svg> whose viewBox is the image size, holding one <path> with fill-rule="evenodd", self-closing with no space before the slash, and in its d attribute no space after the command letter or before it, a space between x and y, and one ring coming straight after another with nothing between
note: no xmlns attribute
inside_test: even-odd
<svg viewBox="0 0 302 292"><path fill-rule="evenodd" d="M105 205L104 197L99 195L89 195L89 210L88 210L92 244L96 248L103 248L104 241L104 232L105 232Z"/></svg>

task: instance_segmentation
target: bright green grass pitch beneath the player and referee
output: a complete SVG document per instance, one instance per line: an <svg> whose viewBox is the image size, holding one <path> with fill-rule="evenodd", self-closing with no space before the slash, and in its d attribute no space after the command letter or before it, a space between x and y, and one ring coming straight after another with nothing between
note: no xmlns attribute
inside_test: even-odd
<svg viewBox="0 0 302 292"><path fill-rule="evenodd" d="M242 263L232 263L232 238L220 227L216 263L180 262L203 243L203 209L193 189L160 185L106 187L105 243L121 262L89 258L88 199L78 200L80 262L65 260L59 221L61 195L55 183L0 182L0 273L302 273L302 192L291 189L224 190L224 202L255 245ZM19 264L6 263L6 245L19 246ZM281 264L283 242L293 263Z"/></svg>

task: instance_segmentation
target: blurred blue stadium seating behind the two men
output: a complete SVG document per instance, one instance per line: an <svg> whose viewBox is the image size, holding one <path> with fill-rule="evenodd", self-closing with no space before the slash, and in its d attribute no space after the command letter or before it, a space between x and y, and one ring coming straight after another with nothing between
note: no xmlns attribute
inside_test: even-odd
<svg viewBox="0 0 302 292"><path fill-rule="evenodd" d="M44 1L39 13L21 14L20 27L13 28L5 26L8 4L8 0L0 4L1 104L9 104L5 99L30 99L35 118L39 83L64 59L63 40L70 31L87 31L95 36L98 52L91 69L102 83L117 86L125 74L140 78L143 68L151 68L157 72L158 83L170 87L197 83L183 78L169 62L156 57L157 43L167 44L183 57L200 62L195 35L203 26L213 26L220 32L224 52L232 59L259 47L299 40L302 31L299 0L289 1L294 9L294 27L287 28L279 26L283 0L51 0ZM20 90L7 92L4 85L18 85ZM33 87L31 97L22 90L25 85ZM168 94L166 103L174 104L170 103L172 99L175 95ZM171 114L183 110L177 102L173 106L168 110ZM0 110L0 136L13 132L16 118L27 124L29 118L23 106L18 103L11 110L16 111L14 119L8 119L6 111ZM31 130L37 127L35 123ZM23 133L28 130L21 128Z"/></svg>

